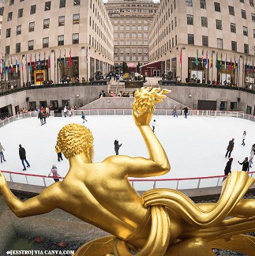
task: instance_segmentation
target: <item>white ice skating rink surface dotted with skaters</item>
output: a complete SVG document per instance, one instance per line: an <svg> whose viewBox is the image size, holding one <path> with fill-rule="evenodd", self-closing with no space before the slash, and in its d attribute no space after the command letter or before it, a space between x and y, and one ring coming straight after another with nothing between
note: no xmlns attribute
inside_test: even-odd
<svg viewBox="0 0 255 256"><path fill-rule="evenodd" d="M91 115L86 116L84 125L92 130L95 141L95 162L114 154L114 140L122 143L120 154L148 157L144 141L131 115ZM157 178L186 178L209 175L223 175L227 163L225 153L228 141L235 139L232 171L242 170L238 160L249 157L255 143L255 123L231 117L197 117L156 115L153 119L156 136L167 152L171 171ZM26 173L48 175L51 165L56 164L58 172L65 176L68 160L58 162L54 151L58 131L70 122L82 123L81 116L66 118L51 117L47 124L40 126L39 119L20 119L1 128L0 141L6 162L1 170L22 171L19 158L19 144L26 149L31 168ZM246 146L242 146L242 133L246 130ZM255 163L254 163L255 164ZM255 170L251 168L251 171Z"/></svg>

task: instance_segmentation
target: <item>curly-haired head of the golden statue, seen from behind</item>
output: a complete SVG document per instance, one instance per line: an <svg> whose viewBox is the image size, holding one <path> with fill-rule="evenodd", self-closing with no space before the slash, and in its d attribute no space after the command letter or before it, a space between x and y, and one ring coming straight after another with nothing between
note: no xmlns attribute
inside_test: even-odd
<svg viewBox="0 0 255 256"><path fill-rule="evenodd" d="M91 131L77 123L69 123L58 133L58 145L67 159L81 152L92 159L93 140Z"/></svg>

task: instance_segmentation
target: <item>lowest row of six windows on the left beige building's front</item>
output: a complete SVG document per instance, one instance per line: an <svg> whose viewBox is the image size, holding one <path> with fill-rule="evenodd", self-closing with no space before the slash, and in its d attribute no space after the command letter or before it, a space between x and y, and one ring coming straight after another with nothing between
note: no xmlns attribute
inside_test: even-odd
<svg viewBox="0 0 255 256"><path fill-rule="evenodd" d="M73 33L73 44L79 43L79 34ZM64 45L64 35L58 36L58 46ZM49 37L43 38L43 48L49 47ZM34 50L34 40L28 41L28 51ZM21 52L21 43L16 43L16 53ZM6 55L9 55L9 45L6 46Z"/></svg>

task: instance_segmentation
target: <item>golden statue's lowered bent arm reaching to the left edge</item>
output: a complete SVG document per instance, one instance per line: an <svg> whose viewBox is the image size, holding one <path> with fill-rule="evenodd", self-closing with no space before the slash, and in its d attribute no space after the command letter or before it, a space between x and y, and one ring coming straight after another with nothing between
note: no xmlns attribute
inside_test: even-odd
<svg viewBox="0 0 255 256"><path fill-rule="evenodd" d="M6 179L0 171L0 192L9 209L18 217L48 213L55 209L56 207L53 205L55 188L56 186L49 186L38 196L29 198L27 201L21 201L9 190Z"/></svg>

